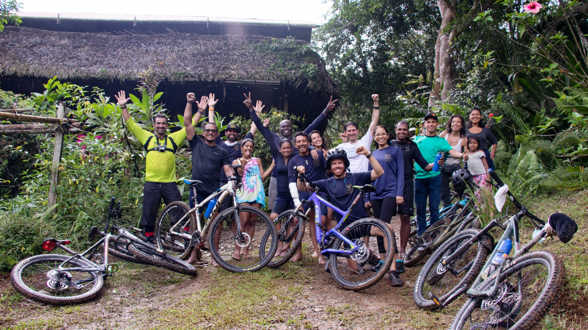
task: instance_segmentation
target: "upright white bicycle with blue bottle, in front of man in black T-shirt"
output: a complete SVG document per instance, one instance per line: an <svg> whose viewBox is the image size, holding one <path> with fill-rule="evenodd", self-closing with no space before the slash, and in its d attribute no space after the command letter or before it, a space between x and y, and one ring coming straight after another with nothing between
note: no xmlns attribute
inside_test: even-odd
<svg viewBox="0 0 588 330"><path fill-rule="evenodd" d="M231 167L236 170L240 164ZM155 224L158 247L185 260L192 250L205 248L203 237L208 234L211 256L220 267L232 272L258 271L265 267L278 245L275 227L268 215L259 208L238 205L235 190L242 185L239 173L235 171L235 176L228 179L229 183L206 197L202 203L195 203L193 208L182 201L169 203L163 208ZM202 182L187 179L183 181L190 185L195 200L196 186ZM235 206L227 208L212 219L225 198L232 198ZM201 210L205 208L204 215L208 220L202 226ZM248 217L245 223L241 218L245 213L253 214L255 217ZM260 247L262 238L266 243L270 243L263 246L266 250ZM249 248L252 257L239 260L232 258L235 246Z"/></svg>

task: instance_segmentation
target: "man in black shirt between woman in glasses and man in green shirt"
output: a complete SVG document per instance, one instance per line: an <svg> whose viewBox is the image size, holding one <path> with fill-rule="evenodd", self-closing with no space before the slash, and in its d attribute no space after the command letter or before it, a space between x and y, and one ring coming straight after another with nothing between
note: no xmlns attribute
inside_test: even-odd
<svg viewBox="0 0 588 330"><path fill-rule="evenodd" d="M390 143L391 146L402 149L405 164L404 202L398 206L398 215L400 216L400 247L398 250L400 258L404 258L406 243L408 243L410 236L410 217L415 215L415 181L413 180L415 161L425 171L433 169L433 164L427 164L416 143L408 139L408 132L408 123L400 120L396 123L396 140L392 140L392 143ZM439 164L443 164L443 158L439 160Z"/></svg>

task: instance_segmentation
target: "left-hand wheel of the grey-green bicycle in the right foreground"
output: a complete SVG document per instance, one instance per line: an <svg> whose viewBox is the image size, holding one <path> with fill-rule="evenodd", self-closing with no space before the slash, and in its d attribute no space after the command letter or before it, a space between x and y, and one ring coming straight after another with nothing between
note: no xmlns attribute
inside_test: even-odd
<svg viewBox="0 0 588 330"><path fill-rule="evenodd" d="M443 265L441 262L477 233L476 230L457 233L437 248L425 262L413 290L413 298L418 307L430 311L439 309L441 306L437 305L429 294L436 297L440 304L449 304L457 298L447 300L457 289L464 284L472 284L476 279L490 252L489 248L494 244L489 235L484 235L477 244L470 245L468 250L457 256L449 265Z"/></svg>

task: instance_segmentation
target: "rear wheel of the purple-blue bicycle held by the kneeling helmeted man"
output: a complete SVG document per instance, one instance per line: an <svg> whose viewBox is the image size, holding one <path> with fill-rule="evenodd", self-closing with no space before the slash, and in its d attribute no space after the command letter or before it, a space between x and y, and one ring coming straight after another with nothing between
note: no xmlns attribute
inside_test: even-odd
<svg viewBox="0 0 588 330"><path fill-rule="evenodd" d="M374 273L373 276L367 277L365 279L361 279L362 277L360 275L366 274L366 272L368 272L368 275L369 275L369 273L372 271L370 270L370 268L368 268L367 270L363 270L363 265L361 265L360 262L357 263L358 271L353 270L353 268L349 267L349 262L348 262L348 260L350 259L349 254L338 255L336 253L332 253L329 256L331 275L333 275L333 278L335 279L335 281L338 282L339 285L345 289L358 291L358 290L363 290L363 289L367 289L367 288L371 287L372 285L376 284L378 281L382 280L382 277L384 277L384 275L386 275L389 272L390 265L392 265L392 262L394 261L394 255L395 255L395 252L397 252L396 237L395 237L395 234L393 233L392 229L389 227L389 225L387 225L382 220L379 220L376 218L362 218L362 219L353 221L353 223L349 224L343 231L341 231L341 234L343 236L349 238L349 240L352 240L352 241L355 240L355 241L358 241L360 244L363 244L363 237L368 235L369 230L371 230L372 226L376 226L377 228L380 228L380 230L383 231L383 233L385 235L386 242L387 242L387 244L385 246L386 258L385 258L385 260L383 260L383 264L381 265L379 270L377 270L376 272L373 272ZM360 227L363 227L363 228L360 228ZM368 247L369 251L377 251L377 240L369 240L369 244L370 244L370 246ZM371 247L375 247L375 249L372 249ZM343 248L345 248L343 245L343 240L341 240L340 238L336 238L335 243L333 244L332 248L334 248L336 250L343 250ZM366 251L368 251L368 250L366 250ZM345 265L343 264L343 261L345 261ZM368 258L368 261L369 261L369 258ZM369 266L370 264L368 261L365 261L364 265ZM347 270L349 270L349 272L352 274L352 277L360 278L360 281L352 282L352 281L350 281L352 278L350 278L349 280L346 278L343 278L343 271L347 271L345 268L347 268ZM363 270L362 273L359 272L360 268ZM355 274L353 274L353 273L355 273ZM368 276L368 275L366 275L366 276Z"/></svg>

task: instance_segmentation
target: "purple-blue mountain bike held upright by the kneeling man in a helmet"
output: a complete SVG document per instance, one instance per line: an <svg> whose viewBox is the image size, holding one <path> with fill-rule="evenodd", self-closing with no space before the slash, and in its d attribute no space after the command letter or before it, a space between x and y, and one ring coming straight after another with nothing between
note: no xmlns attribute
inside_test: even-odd
<svg viewBox="0 0 588 330"><path fill-rule="evenodd" d="M299 174L299 177L300 180L306 181L305 174ZM302 214L300 210L302 210L302 204L312 203L315 208L316 240L319 243L320 253L327 260L325 271L329 271L341 287L350 290L369 288L382 279L388 272L397 250L396 237L389 225L376 218L363 218L353 221L339 232L360 197L365 193L375 191L375 188L369 184L362 187L354 186L353 188L358 188L360 192L346 211L340 210L326 201L318 194L319 190L316 188L310 195L309 200L301 200L300 205L294 210L285 211L276 218L276 223L280 223L282 226L278 232L280 243L290 244L292 240L294 241L288 254L275 256L272 260L275 267L279 267L279 264L285 264L298 250L299 245L302 244L301 237L304 234L304 221L308 221L306 218L308 217L308 211L306 214ZM320 224L320 203L332 208L335 213L340 215L341 219L335 228L327 230L326 227ZM368 245L366 245L363 240L363 237L366 236L376 236L383 240L369 240ZM265 237L266 235L264 235ZM379 248L378 241L383 245L381 248ZM265 244L265 241L262 241L262 247ZM263 251L264 249L261 250ZM379 251L382 252L378 254ZM380 258L382 254L385 257Z"/></svg>

